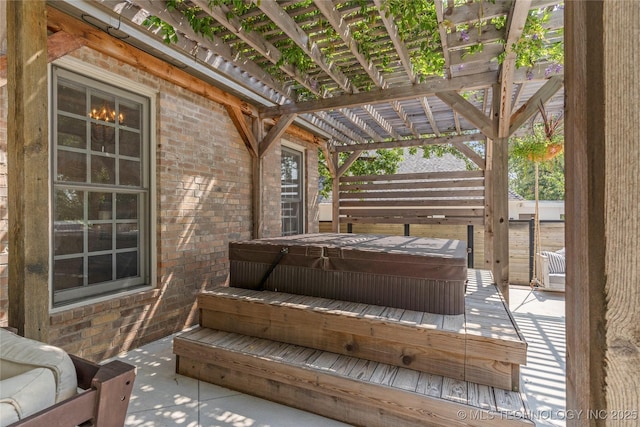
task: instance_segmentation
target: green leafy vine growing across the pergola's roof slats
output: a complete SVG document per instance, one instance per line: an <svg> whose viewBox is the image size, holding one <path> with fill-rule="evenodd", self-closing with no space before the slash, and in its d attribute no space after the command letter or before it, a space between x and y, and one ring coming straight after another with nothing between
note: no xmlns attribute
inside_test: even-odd
<svg viewBox="0 0 640 427"><path fill-rule="evenodd" d="M263 0L260 0L263 1ZM276 24L271 22L260 12L257 4L245 0L209 0L210 6L224 6L227 18L237 19L244 31L255 31L262 34L281 53L280 59L274 64L262 58L253 49L248 47L242 40L233 33L217 23L211 16L203 13L197 7L192 6L187 0L166 0L167 9L177 10L188 20L193 30L205 38L212 39L215 35L221 35L222 40L233 46L248 59L255 61L274 79L281 82L291 83L291 78L281 67L292 65L302 73L308 73L314 83L314 92L329 95L336 86L319 69L315 61L310 58L303 49L293 43ZM461 40L467 39L471 31L477 31L477 43L464 48L464 55L473 55L484 50L482 33L490 26L495 29L504 27L506 18L498 17L486 19L484 16L485 6L495 3L495 0L474 0L479 4L479 12L476 20L462 24L452 24L445 20L442 25L446 33L457 33ZM456 7L462 7L462 3L468 1L456 1ZM397 60L397 54L390 44L388 37L380 32L375 32L379 28L381 16L392 17L397 28L400 40L405 43L410 52L413 71L420 80L431 76L442 76L444 74L444 55L440 40L439 24L436 15L435 3L431 1L416 0L383 0L382 11L367 0L351 0L336 4L336 8L343 15L343 19L349 23L350 33L353 40L358 43L359 52L372 61L378 70L384 75L393 71L390 66L392 61ZM334 63L338 68L349 68L344 62L344 55L340 57L340 49L343 46L340 36L336 30L329 25L322 13L313 7L313 0L302 0L284 6L284 9L300 27L307 31L312 40L321 50L323 56L328 61ZM543 8L532 10L529 13L525 29L520 40L513 46L517 54L517 67L533 67L540 61L549 61L553 66L548 68L548 72L560 71L563 63L563 46L561 41L549 43L547 35L549 29L545 26L548 22L553 8ZM145 21L146 25L160 28L166 43L175 43L178 39L176 30L161 19L150 16ZM553 34L553 36L561 33ZM310 41L311 42L311 41ZM504 40L493 43L503 43ZM341 48L344 53L344 48ZM501 62L503 55L497 60ZM374 87L374 82L366 73L358 73L353 70L349 73L351 83L360 91L367 91ZM295 84L295 91L298 94L297 100L315 99L317 96L308 88Z"/></svg>

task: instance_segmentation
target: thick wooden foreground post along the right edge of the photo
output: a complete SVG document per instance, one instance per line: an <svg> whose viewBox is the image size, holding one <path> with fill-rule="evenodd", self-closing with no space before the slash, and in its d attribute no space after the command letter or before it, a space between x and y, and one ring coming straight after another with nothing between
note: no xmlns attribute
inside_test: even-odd
<svg viewBox="0 0 640 427"><path fill-rule="evenodd" d="M637 422L639 32L635 2L566 3L568 426Z"/></svg>

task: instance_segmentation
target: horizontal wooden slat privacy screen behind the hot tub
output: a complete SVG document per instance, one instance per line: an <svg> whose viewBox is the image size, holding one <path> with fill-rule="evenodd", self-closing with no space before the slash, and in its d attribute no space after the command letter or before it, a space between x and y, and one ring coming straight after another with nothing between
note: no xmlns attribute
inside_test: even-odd
<svg viewBox="0 0 640 427"><path fill-rule="evenodd" d="M340 178L340 222L484 224L484 171Z"/></svg>

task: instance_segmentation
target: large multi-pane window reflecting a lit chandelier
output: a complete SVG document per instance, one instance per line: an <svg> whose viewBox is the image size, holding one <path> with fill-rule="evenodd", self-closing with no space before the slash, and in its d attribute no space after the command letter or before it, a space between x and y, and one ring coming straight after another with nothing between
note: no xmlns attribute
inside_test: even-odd
<svg viewBox="0 0 640 427"><path fill-rule="evenodd" d="M52 298L149 283L149 98L54 67Z"/></svg>

